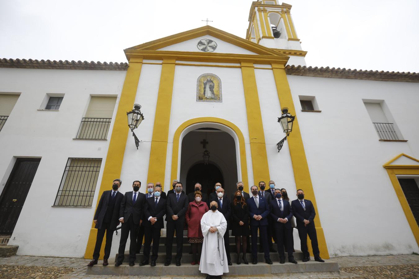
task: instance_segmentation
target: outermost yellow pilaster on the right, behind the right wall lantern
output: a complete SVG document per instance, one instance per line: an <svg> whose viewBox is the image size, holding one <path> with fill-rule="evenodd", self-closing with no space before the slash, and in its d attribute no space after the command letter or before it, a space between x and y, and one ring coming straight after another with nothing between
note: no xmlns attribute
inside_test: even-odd
<svg viewBox="0 0 419 279"><path fill-rule="evenodd" d="M287 107L290 113L296 113L284 66L281 64L272 63L272 72L274 73L278 99L281 107ZM310 171L308 169L308 163L305 157L303 138L301 137L300 126L298 125L297 117L294 120L292 125L292 133L288 137L287 141L288 148L290 149L292 169L294 170L295 185L297 189L303 189L305 197L313 202L313 206L317 212L315 223L320 254L322 258L329 259L326 238L324 237L323 228L321 227L320 223L316 198L314 196L313 184L311 183ZM309 247L311 249L311 246ZM310 251L310 253L313 252Z"/></svg>

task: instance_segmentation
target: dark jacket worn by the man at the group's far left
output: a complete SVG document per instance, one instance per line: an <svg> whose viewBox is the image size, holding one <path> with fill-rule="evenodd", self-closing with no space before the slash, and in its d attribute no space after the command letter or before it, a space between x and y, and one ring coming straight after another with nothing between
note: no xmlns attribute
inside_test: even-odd
<svg viewBox="0 0 419 279"><path fill-rule="evenodd" d="M102 228L103 218L105 218L106 210L108 209L108 203L109 203L109 199L111 198L111 192L112 190L103 191L101 199L99 200L99 204L98 204L98 207L96 208L95 216L93 217L93 220L98 220L98 222L95 225L95 228L97 229ZM116 226L119 224L119 209L121 207L121 201L123 198L124 198L124 195L122 195L122 193L120 193L119 191L116 192L114 212L112 213L112 219L111 219L112 230L116 230Z"/></svg>

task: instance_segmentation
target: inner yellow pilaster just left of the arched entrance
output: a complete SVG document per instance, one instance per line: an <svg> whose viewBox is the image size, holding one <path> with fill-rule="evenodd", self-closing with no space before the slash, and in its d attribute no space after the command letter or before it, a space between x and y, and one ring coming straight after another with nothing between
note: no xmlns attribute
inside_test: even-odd
<svg viewBox="0 0 419 279"><path fill-rule="evenodd" d="M163 183L165 181L167 141L169 137L174 78L175 60L163 59L154 118L153 138L151 139L147 181L163 181ZM163 184L163 191L165 186Z"/></svg>

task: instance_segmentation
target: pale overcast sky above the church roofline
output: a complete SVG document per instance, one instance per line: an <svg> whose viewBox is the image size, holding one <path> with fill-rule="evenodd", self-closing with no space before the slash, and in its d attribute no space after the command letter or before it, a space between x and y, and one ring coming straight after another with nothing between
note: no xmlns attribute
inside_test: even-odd
<svg viewBox="0 0 419 279"><path fill-rule="evenodd" d="M0 58L126 62L210 25L244 38L251 0L0 0ZM419 0L288 0L308 66L419 72Z"/></svg>

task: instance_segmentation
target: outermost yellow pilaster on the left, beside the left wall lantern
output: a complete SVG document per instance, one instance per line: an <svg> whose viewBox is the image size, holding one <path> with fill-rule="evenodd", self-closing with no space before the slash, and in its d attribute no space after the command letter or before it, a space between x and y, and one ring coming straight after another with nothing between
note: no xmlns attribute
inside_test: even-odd
<svg viewBox="0 0 419 279"><path fill-rule="evenodd" d="M114 128L112 129L108 154L106 155L105 167L103 168L103 176L101 186L98 191L98 202L96 202L96 208L103 191L109 190L109 185L111 185L111 182L114 179L119 178L121 175L122 162L124 161L125 146L127 144L129 132L127 126L127 111L132 110L134 105L135 95L137 95L138 81L140 79L141 67L141 58L129 60L129 67L125 76L124 86L122 87L118 109L116 110ZM92 227L84 254L85 259L93 258L93 250L95 249L97 235L97 229L94 227L95 224L92 222ZM103 259L105 240L106 236L103 238L100 259Z"/></svg>

